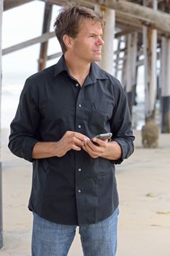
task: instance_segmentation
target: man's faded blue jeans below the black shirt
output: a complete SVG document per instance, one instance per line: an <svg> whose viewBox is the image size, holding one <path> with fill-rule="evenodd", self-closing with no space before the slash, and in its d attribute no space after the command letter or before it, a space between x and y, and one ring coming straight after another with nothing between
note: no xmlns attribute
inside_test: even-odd
<svg viewBox="0 0 170 256"><path fill-rule="evenodd" d="M115 256L118 208L111 217L91 225L80 225L85 256ZM34 213L32 256L66 256L74 240L76 225L60 225Z"/></svg>

